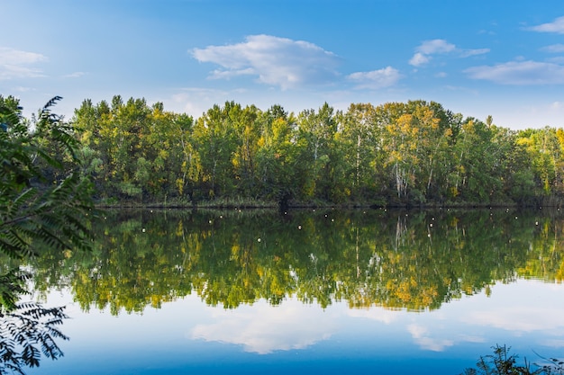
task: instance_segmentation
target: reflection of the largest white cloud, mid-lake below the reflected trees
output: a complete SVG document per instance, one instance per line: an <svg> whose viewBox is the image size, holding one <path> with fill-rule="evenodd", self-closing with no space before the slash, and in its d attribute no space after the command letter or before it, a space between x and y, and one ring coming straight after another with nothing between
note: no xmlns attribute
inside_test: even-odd
<svg viewBox="0 0 564 375"><path fill-rule="evenodd" d="M264 301L233 310L214 308L215 323L194 327L191 338L242 344L246 352L267 354L277 350L304 349L328 339L337 319L316 306L286 300L272 307Z"/></svg>

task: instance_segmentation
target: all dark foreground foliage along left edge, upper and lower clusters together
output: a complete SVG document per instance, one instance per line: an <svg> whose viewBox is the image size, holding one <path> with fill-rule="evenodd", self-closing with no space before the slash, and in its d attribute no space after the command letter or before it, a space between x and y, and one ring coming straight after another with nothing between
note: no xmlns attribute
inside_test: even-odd
<svg viewBox="0 0 564 375"><path fill-rule="evenodd" d="M0 95L0 253L27 260L44 252L91 246L91 188L77 169L77 138L50 108L51 99L27 121L19 101ZM11 268L0 275L0 373L23 374L41 353L63 355L56 339L64 308L18 302L31 275Z"/></svg>

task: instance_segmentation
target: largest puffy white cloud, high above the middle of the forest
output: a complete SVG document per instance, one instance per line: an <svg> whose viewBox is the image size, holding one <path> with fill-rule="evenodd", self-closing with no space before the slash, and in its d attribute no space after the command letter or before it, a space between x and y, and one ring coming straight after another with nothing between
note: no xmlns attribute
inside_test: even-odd
<svg viewBox="0 0 564 375"><path fill-rule="evenodd" d="M338 76L339 58L313 43L270 35L250 35L242 43L192 49L200 62L223 67L213 78L257 76L260 83L282 89L331 83Z"/></svg>

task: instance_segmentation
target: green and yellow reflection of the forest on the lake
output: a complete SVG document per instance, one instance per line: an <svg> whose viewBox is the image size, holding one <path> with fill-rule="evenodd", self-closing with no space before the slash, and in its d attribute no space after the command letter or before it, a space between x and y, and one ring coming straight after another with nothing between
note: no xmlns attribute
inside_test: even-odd
<svg viewBox="0 0 564 375"><path fill-rule="evenodd" d="M111 212L91 254L42 254L37 290L141 312L196 293L237 308L289 297L414 311L518 276L563 277L562 220L540 212Z"/></svg>

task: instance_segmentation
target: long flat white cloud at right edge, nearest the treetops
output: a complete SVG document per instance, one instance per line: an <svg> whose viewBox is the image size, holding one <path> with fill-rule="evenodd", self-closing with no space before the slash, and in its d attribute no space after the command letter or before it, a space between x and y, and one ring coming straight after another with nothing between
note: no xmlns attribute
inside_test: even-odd
<svg viewBox="0 0 564 375"><path fill-rule="evenodd" d="M564 67L537 61L511 61L496 66L470 67L471 78L484 79L502 85L562 85Z"/></svg>

